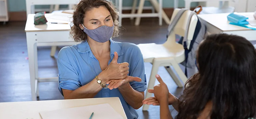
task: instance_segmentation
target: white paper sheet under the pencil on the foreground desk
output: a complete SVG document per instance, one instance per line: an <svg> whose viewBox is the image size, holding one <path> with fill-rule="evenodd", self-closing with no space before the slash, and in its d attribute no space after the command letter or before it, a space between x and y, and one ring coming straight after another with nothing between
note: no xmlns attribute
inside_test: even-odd
<svg viewBox="0 0 256 119"><path fill-rule="evenodd" d="M93 119L123 119L110 104L90 105L40 112L42 119L89 119L94 112Z"/></svg>

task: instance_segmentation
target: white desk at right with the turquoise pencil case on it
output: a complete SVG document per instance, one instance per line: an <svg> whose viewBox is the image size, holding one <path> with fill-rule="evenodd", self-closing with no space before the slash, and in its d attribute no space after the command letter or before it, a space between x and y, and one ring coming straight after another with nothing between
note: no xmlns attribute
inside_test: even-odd
<svg viewBox="0 0 256 119"><path fill-rule="evenodd" d="M249 19L254 19L253 13L236 13L248 17ZM239 27L235 25L229 24L227 20L227 16L229 14L199 14L198 17L203 19L207 27L207 31L210 34L215 33L227 33L227 34L234 34L245 37L247 40L256 40L255 34L256 30L251 30L244 27ZM248 25L250 26L250 25ZM256 27L254 27L256 28Z"/></svg>

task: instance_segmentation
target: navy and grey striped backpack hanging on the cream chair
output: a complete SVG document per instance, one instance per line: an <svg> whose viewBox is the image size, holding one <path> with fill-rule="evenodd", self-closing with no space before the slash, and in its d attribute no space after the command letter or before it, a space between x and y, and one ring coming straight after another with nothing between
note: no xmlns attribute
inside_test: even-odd
<svg viewBox="0 0 256 119"><path fill-rule="evenodd" d="M179 21L180 17L182 14L187 11L188 9L186 8L181 8L178 13L174 16L172 22L168 26L168 34L167 37L170 35L172 29L175 27L176 23ZM183 45L184 50L185 50L185 61L183 61L181 64L185 66L185 75L187 76L187 67L188 68L194 68L196 66L195 61L196 61L196 54L197 54L197 48L198 45L201 43L202 40L204 40L205 34L206 34L206 26L203 24L201 18L198 18L195 33L193 36L193 39L190 42L189 48L187 47L187 35L188 35L188 28L190 24L190 20L193 15L197 15L194 11L191 12L188 23L186 26L186 31L184 37L181 37L177 43L180 43Z"/></svg>

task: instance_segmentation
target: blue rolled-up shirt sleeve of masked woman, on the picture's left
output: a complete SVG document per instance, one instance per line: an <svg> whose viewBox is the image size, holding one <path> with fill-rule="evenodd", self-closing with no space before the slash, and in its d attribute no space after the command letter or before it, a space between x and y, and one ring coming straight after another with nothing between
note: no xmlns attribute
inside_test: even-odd
<svg viewBox="0 0 256 119"><path fill-rule="evenodd" d="M62 89L76 90L81 87L79 76L76 70L72 67L65 50L61 50L58 54L58 78L59 91L63 95Z"/></svg>

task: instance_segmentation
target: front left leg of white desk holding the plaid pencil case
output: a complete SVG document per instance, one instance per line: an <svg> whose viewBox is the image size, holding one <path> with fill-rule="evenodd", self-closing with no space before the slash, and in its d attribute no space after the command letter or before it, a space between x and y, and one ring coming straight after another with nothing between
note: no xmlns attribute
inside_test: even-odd
<svg viewBox="0 0 256 119"><path fill-rule="evenodd" d="M29 75L30 75L30 86L31 86L31 97L32 101L37 100L37 96L35 93L35 80L36 80L36 75L35 74L35 53L37 52L37 41L36 41L36 36L32 32L27 32L27 48L28 48L28 65L29 65Z"/></svg>

